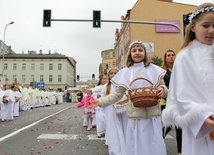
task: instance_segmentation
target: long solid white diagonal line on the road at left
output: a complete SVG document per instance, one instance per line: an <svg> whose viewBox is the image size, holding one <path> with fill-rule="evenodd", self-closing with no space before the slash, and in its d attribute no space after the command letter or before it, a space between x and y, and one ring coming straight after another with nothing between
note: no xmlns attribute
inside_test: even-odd
<svg viewBox="0 0 214 155"><path fill-rule="evenodd" d="M28 125L28 126L25 126L25 127L21 128L21 129L18 129L18 130L14 131L14 132L12 132L12 133L6 135L6 136L3 136L3 137L0 138L0 142L2 142L2 141L4 141L4 140L6 140L7 138L10 138L10 137L12 137L12 136L18 134L18 133L20 133L20 132L23 131L23 130L26 130L26 129L28 129L28 128L30 128L30 127L32 127L32 126L34 126L34 125L36 125L36 124L38 124L38 123L44 121L45 119L48 119L48 118L50 118L50 117L52 117L52 116L54 116L54 115L57 115L57 114L59 114L59 113L65 111L65 110L67 110L67 109L69 109L69 108L62 109L62 110L60 110L60 111L58 111L58 112L56 112L56 113L54 113L54 114L51 114L51 115L49 115L49 116L47 116L47 117L45 117L45 118L42 118L42 119L40 119L40 120L38 120L38 121L36 121L36 122L34 122L34 123Z"/></svg>

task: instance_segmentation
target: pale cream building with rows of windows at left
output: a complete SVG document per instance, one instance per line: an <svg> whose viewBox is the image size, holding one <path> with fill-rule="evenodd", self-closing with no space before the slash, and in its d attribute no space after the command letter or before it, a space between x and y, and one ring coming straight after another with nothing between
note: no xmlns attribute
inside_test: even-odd
<svg viewBox="0 0 214 155"><path fill-rule="evenodd" d="M43 54L40 51L37 54L29 51L28 54L5 54L3 69L5 82L9 84L17 81L30 85L32 81L36 81L55 90L76 86L76 61L58 53Z"/></svg>

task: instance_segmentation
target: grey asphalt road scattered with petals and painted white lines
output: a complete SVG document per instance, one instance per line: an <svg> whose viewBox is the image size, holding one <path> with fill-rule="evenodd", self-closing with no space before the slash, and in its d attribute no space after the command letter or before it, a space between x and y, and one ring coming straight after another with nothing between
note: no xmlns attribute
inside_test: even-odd
<svg viewBox="0 0 214 155"><path fill-rule="evenodd" d="M0 122L0 155L108 155L96 129L82 126L82 109L63 103L20 112ZM176 154L174 130L166 138L168 155Z"/></svg>

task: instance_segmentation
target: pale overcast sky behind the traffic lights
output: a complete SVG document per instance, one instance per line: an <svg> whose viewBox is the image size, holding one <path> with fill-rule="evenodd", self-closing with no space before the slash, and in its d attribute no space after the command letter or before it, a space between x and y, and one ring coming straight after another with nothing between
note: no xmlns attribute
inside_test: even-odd
<svg viewBox="0 0 214 155"><path fill-rule="evenodd" d="M16 53L28 50L43 53L58 52L73 57L80 77L98 75L101 51L112 49L115 29L121 24L102 23L92 28L91 22L52 21L50 28L42 27L43 10L52 10L52 19L92 19L93 10L101 10L104 20L120 20L137 0L0 0L0 39ZM199 5L213 0L174 0ZM82 78L81 80L86 80Z"/></svg>

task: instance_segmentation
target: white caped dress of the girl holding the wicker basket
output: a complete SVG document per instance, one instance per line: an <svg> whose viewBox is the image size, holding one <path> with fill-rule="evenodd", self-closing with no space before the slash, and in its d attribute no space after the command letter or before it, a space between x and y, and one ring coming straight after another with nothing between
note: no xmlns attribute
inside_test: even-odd
<svg viewBox="0 0 214 155"><path fill-rule="evenodd" d="M130 89L130 83L136 78L144 77L149 79L155 85L163 79L165 71L153 64L144 67L144 63L136 63L129 68L120 70L111 80L112 83L118 85L123 92ZM133 88L139 86L148 86L144 80L138 80L133 84ZM121 91L122 92L122 91ZM117 92L119 93L119 92ZM99 99L100 105L109 102L115 102L121 94L112 93L103 99ZM132 104L131 102L129 104ZM130 110L130 109L128 109ZM129 111L127 113L129 114ZM132 114L133 115L133 114ZM153 116L148 119L128 118L126 129L126 155L166 155L166 146L162 137L162 125L160 116Z"/></svg>

